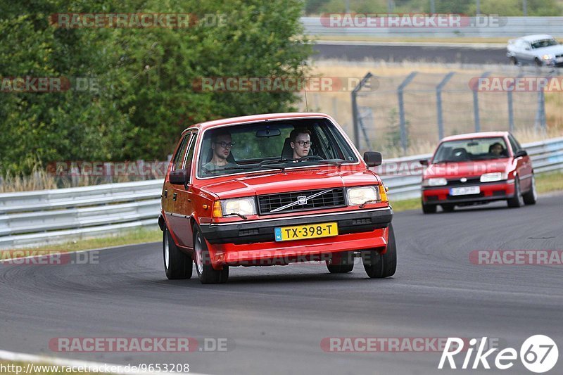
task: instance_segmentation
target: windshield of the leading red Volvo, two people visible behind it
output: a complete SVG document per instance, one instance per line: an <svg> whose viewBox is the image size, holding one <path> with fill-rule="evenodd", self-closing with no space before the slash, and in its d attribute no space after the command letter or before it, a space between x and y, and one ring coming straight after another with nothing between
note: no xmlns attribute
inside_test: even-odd
<svg viewBox="0 0 563 375"><path fill-rule="evenodd" d="M205 131L198 177L356 162L346 139L327 119L254 122Z"/></svg>

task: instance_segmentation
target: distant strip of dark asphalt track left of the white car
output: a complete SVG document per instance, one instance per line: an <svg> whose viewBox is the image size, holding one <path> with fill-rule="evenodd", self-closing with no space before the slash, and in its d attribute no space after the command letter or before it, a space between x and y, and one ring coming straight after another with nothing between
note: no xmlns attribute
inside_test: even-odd
<svg viewBox="0 0 563 375"><path fill-rule="evenodd" d="M328 58L346 61L417 61L427 63L508 64L506 49L491 47L470 48L460 46L406 46L406 45L350 45L315 44L317 60Z"/></svg>

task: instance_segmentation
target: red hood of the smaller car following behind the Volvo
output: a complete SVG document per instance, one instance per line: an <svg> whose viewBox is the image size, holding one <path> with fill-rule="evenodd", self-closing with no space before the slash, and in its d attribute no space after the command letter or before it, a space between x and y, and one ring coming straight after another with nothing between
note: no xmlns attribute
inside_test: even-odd
<svg viewBox="0 0 563 375"><path fill-rule="evenodd" d="M436 163L429 165L423 172L424 178L444 177L480 177L483 173L507 172L510 158L479 160L473 162Z"/></svg>

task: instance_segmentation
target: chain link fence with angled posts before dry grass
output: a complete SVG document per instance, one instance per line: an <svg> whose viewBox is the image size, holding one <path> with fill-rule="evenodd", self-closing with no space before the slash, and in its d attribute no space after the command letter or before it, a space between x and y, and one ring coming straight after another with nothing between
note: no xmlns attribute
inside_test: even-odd
<svg viewBox="0 0 563 375"><path fill-rule="evenodd" d="M355 143L360 150L412 155L453 134L546 132L544 91L550 85L542 85L550 80L559 77L539 69L368 73L352 94Z"/></svg>

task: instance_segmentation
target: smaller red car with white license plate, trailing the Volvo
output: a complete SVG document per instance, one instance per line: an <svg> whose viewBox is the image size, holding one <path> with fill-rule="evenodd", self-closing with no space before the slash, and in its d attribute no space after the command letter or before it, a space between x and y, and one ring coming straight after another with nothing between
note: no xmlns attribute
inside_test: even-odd
<svg viewBox="0 0 563 375"><path fill-rule="evenodd" d="M421 160L422 211L438 205L452 211L456 205L507 201L508 206L536 203L533 167L526 150L509 132L480 132L448 136L440 141L431 160Z"/></svg>

